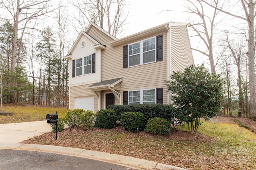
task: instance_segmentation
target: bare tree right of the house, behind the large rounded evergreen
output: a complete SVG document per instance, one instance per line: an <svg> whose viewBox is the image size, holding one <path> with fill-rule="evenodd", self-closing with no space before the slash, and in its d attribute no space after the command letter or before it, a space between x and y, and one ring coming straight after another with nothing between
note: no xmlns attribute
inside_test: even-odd
<svg viewBox="0 0 256 170"><path fill-rule="evenodd" d="M185 8L188 10L186 12L190 14L196 14L200 21L188 21L188 28L190 31L194 31L196 33L195 36L200 37L200 39L204 42L204 45L206 46L207 50L202 49L195 49L192 48L195 51L198 51L202 53L203 55L206 55L210 61L211 71L212 73L215 73L215 65L214 65L214 56L213 56L213 35L214 30L219 22L216 22L216 16L218 15L218 10L214 9L214 11L211 14L206 14L207 9L209 8L208 5L204 6L204 4L200 0L186 0L188 4L186 4ZM219 4L219 0L212 1L212 6L217 7Z"/></svg>

